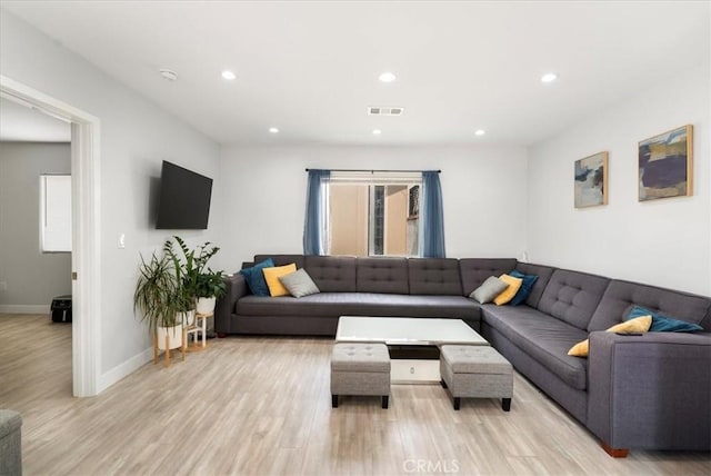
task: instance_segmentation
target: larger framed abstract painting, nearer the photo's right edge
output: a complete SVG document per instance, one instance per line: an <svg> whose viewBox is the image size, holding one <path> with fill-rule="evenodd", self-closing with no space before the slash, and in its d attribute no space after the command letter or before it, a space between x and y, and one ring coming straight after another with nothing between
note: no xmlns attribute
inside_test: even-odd
<svg viewBox="0 0 711 476"><path fill-rule="evenodd" d="M692 126L682 126L639 143L639 201L693 194L692 146Z"/></svg>

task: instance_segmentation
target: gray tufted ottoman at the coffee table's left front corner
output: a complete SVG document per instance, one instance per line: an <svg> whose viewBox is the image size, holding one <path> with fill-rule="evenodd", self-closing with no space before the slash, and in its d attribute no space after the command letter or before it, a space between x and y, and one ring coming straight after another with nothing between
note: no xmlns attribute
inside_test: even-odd
<svg viewBox="0 0 711 476"><path fill-rule="evenodd" d="M377 395L388 408L390 355L384 344L338 343L331 356L331 406L339 395Z"/></svg>

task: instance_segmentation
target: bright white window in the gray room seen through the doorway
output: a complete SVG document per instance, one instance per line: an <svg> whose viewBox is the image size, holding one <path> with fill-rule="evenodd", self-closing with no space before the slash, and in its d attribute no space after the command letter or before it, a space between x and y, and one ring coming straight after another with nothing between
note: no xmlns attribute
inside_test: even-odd
<svg viewBox="0 0 711 476"><path fill-rule="evenodd" d="M71 176L40 176L40 247L71 251Z"/></svg>

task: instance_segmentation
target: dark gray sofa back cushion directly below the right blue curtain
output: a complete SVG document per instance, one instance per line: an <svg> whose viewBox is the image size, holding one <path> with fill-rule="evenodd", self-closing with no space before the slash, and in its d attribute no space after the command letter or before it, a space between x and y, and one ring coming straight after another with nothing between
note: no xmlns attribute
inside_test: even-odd
<svg viewBox="0 0 711 476"><path fill-rule="evenodd" d="M463 296L454 258L411 258L408 276L411 295Z"/></svg>

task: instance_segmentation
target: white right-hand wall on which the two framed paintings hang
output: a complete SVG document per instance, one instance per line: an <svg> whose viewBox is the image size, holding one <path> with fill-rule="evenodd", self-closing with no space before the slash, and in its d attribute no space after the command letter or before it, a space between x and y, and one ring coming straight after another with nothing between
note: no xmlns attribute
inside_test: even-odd
<svg viewBox="0 0 711 476"><path fill-rule="evenodd" d="M530 148L529 259L711 295L710 83L707 59ZM688 123L693 196L639 202L638 142ZM573 162L603 150L609 205L575 209Z"/></svg>

